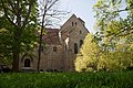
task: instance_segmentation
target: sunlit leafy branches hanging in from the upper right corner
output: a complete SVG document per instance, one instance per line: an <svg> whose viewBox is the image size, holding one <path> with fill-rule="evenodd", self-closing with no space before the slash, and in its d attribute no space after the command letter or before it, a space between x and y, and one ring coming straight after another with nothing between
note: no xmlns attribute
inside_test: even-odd
<svg viewBox="0 0 133 88"><path fill-rule="evenodd" d="M133 42L133 1L98 0L93 7L101 37L106 42Z"/></svg>

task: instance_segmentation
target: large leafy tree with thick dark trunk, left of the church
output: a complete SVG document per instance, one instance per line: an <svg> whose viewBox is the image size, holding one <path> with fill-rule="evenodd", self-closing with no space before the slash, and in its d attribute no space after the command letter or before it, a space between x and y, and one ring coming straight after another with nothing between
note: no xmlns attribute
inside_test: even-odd
<svg viewBox="0 0 133 88"><path fill-rule="evenodd" d="M23 36L33 32L33 26L37 23L37 0L0 0L0 8L3 13L1 18L3 18L7 21L7 25L10 26L2 28L8 30L12 36L12 69L19 70L20 53L27 38L23 38Z"/></svg>

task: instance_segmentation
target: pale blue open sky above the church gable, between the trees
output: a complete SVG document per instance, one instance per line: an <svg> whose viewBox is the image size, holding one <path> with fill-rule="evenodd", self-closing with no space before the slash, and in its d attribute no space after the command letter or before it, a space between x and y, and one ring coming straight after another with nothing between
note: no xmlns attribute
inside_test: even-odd
<svg viewBox="0 0 133 88"><path fill-rule="evenodd" d="M75 14L85 22L85 26L90 32L94 32L94 12L93 4L96 0L60 0L61 8L70 11L71 14ZM70 14L70 15L71 15ZM68 16L68 19L70 18Z"/></svg>

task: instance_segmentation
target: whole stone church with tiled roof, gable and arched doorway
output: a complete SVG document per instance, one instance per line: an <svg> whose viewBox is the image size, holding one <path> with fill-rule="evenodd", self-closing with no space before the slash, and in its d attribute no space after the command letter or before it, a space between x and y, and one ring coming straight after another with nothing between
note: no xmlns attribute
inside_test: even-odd
<svg viewBox="0 0 133 88"><path fill-rule="evenodd" d="M41 53L40 70L74 70L75 56L89 33L85 23L74 14L61 26L61 29L45 29L47 43ZM38 48L34 56L27 55L20 59L20 69L37 70Z"/></svg>

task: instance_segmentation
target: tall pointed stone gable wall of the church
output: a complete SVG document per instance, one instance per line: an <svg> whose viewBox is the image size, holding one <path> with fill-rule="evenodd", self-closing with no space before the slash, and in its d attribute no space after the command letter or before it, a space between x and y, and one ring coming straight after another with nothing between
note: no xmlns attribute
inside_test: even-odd
<svg viewBox="0 0 133 88"><path fill-rule="evenodd" d="M66 45L65 40L69 38L66 45L66 59L65 59L65 69L74 70L74 59L76 54L74 54L74 43L78 44L78 52L80 51L80 41L84 40L89 31L84 26L84 23L76 18L74 14L64 23L61 28L61 31L66 32L66 36L63 36L63 43Z"/></svg>

